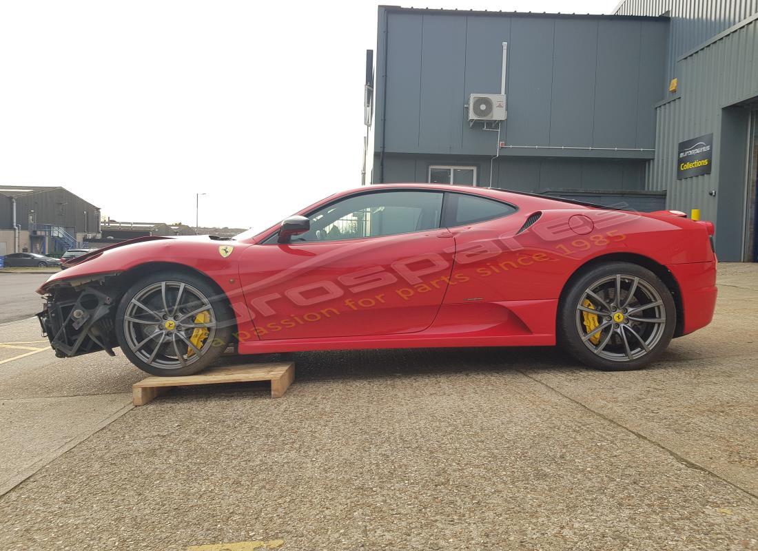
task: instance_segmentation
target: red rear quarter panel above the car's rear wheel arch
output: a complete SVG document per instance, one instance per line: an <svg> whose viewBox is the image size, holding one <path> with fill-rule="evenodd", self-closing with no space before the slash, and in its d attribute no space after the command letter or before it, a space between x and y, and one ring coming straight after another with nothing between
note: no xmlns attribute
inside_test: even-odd
<svg viewBox="0 0 758 551"><path fill-rule="evenodd" d="M628 211L547 210L522 233L507 218L453 232L453 281L460 274L462 283L450 287L448 304L471 297L493 302L557 299L572 274L606 255L639 255L664 266L713 261L700 224Z"/></svg>

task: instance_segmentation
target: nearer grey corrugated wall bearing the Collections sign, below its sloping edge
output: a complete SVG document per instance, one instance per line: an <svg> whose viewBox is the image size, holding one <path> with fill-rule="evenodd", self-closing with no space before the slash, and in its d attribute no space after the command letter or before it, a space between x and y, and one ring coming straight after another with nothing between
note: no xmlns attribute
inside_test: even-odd
<svg viewBox="0 0 758 551"><path fill-rule="evenodd" d="M749 108L738 104L758 99L758 20L677 67L681 97L656 109L656 158L647 167L646 186L667 189L669 208L700 208L703 219L716 222L720 252L727 251L724 258L740 260L737 249L731 249L744 233ZM679 142L708 133L713 133L711 174L677 180Z"/></svg>

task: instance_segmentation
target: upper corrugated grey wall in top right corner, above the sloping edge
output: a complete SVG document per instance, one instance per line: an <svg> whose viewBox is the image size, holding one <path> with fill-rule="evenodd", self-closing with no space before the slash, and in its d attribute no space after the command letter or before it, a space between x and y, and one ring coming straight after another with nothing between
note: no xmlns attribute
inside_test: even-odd
<svg viewBox="0 0 758 551"><path fill-rule="evenodd" d="M667 11L672 19L666 81L677 76L678 58L756 13L758 0L627 0L615 9L619 15L657 16Z"/></svg>

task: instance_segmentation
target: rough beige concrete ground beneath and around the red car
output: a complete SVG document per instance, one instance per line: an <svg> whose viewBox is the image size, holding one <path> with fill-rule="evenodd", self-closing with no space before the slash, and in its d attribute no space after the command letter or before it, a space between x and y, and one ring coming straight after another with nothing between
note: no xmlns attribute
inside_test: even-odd
<svg viewBox="0 0 758 551"><path fill-rule="evenodd" d="M121 354L0 346L0 492L36 471L0 497L0 549L758 549L756 308L758 265L720 265L713 324L644 371L296 354L283 399L186 387L136 409ZM233 542L252 543L202 547Z"/></svg>

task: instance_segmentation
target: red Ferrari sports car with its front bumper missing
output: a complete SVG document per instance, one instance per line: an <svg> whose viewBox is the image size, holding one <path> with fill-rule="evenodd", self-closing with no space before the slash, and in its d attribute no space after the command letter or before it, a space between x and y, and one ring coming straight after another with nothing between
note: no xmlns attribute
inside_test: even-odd
<svg viewBox="0 0 758 551"><path fill-rule="evenodd" d="M59 356L121 346L156 375L240 354L550 346L641 368L713 317L713 224L503 189L353 189L262 233L142 237L38 292Z"/></svg>

